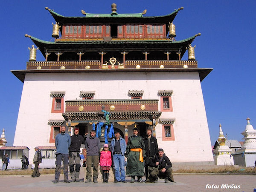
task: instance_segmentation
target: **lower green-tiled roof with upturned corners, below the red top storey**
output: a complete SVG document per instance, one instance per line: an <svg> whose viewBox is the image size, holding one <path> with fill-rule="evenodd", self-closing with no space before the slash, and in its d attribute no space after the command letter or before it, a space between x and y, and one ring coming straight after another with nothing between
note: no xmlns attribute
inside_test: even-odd
<svg viewBox="0 0 256 192"><path fill-rule="evenodd" d="M73 49L73 50L81 50L81 49L88 49L88 50L95 50L101 51L102 47L104 49L108 49L110 51L116 51L117 49L125 49L128 51L129 49L136 51L136 48L145 48L147 47L148 51L155 51L155 50L164 50L168 49L178 49L183 47L181 50L181 57L186 52L186 47L189 46L195 39L195 37L199 36L200 34L195 34L192 37L189 37L184 40L178 41L169 41L169 38L166 40L111 40L111 41L104 41L102 40L68 40L68 41L45 41L40 40L36 37L25 35L25 37L29 37L33 43L40 49L41 53L45 56L45 49L50 52L53 50L54 52L58 52L58 50L63 51L64 49ZM154 38L152 38L154 39ZM157 39L157 38L155 38ZM114 46L113 46L114 45Z"/></svg>

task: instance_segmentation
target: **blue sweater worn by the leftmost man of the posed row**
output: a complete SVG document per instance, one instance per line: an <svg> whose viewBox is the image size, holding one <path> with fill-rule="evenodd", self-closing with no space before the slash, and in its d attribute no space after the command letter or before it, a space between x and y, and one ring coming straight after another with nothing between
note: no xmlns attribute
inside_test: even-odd
<svg viewBox="0 0 256 192"><path fill-rule="evenodd" d="M57 153L68 154L68 148L70 147L70 135L67 133L59 133L55 138L55 147Z"/></svg>

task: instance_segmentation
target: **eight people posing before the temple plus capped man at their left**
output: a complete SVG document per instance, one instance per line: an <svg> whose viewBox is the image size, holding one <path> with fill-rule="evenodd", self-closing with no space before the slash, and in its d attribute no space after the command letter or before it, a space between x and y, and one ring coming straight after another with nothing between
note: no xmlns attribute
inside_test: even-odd
<svg viewBox="0 0 256 192"><path fill-rule="evenodd" d="M85 183L98 183L99 176L98 165L102 170L103 183L108 183L109 171L111 166L115 170L114 183L125 180L125 159L126 175L131 176L131 183L143 182L145 168L145 183L157 182L157 179L165 179L165 182L174 182L172 176L172 163L164 154L163 149L159 149L157 139L152 136L152 130L146 130L146 137L142 138L138 135L139 130L135 126L133 135L128 138L126 144L125 139L120 136L120 132L115 132L115 138L112 139L110 147L107 143L104 144L100 152L100 140L96 137L96 131L91 130L90 135L85 137L79 135L79 128L75 127L74 135L70 137L66 132L66 126L61 126L61 132L56 135L56 169L55 179L53 183L58 183L61 173L61 161L64 165L64 182L79 182L80 167L83 164L84 156L80 153L81 144L85 144L86 148L86 178ZM38 147L35 148L35 170L32 177L39 177L38 164L41 163L41 152ZM112 165L113 162L113 165ZM68 179L68 166L70 167L71 181ZM93 172L92 172L93 168Z"/></svg>

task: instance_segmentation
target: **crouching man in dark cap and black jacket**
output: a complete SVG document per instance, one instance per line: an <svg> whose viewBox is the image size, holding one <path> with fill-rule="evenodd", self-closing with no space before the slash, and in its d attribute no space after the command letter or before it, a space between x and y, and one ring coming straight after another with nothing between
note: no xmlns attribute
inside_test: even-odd
<svg viewBox="0 0 256 192"><path fill-rule="evenodd" d="M158 149L158 155L154 155L148 164L152 171L150 172L148 179L145 183L152 183L158 178L164 179L166 183L169 181L174 182L172 175L172 163L168 157L163 153L163 149Z"/></svg>

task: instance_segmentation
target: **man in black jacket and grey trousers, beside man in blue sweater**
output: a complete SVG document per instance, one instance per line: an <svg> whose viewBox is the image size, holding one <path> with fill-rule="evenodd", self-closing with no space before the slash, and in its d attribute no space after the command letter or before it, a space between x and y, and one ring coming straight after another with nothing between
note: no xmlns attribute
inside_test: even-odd
<svg viewBox="0 0 256 192"><path fill-rule="evenodd" d="M85 144L83 136L79 135L79 128L75 128L74 135L71 136L71 144L69 148L69 166L71 182L79 182L80 172L80 147ZM76 164L76 172L74 165Z"/></svg>

